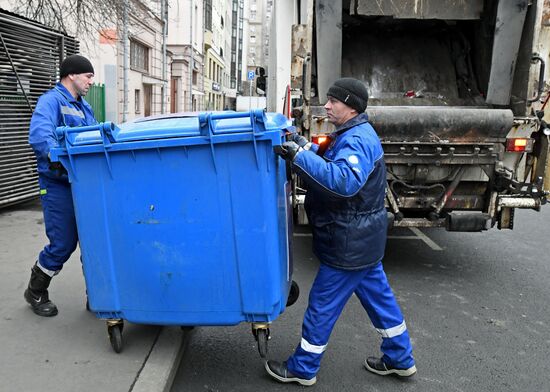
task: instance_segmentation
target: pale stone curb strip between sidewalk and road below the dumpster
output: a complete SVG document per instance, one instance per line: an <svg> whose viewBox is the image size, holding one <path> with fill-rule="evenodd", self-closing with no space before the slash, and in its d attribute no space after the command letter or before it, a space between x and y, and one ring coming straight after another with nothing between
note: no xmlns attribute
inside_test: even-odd
<svg viewBox="0 0 550 392"><path fill-rule="evenodd" d="M189 335L180 327L162 328L129 392L169 392Z"/></svg>

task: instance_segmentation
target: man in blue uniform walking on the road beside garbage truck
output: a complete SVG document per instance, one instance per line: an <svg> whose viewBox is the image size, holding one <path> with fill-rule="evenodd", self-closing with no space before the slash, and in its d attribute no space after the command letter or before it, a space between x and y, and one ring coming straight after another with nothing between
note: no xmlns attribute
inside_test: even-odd
<svg viewBox="0 0 550 392"><path fill-rule="evenodd" d="M382 335L381 357L367 370L408 377L416 373L409 333L390 288L382 258L387 236L386 168L378 135L368 123L368 92L353 78L338 79L325 105L336 126L326 144L293 134L275 152L291 162L307 187L305 209L320 260L302 325L302 339L287 361L266 361L280 382L313 385L332 329L355 293Z"/></svg>

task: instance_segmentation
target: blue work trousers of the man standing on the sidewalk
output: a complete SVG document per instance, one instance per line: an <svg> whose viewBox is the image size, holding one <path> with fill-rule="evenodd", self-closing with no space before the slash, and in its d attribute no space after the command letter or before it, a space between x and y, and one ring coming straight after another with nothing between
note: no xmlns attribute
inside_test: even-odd
<svg viewBox="0 0 550 392"><path fill-rule="evenodd" d="M78 243L71 185L43 175L39 175L38 181L44 225L50 241L40 252L38 262L45 269L58 272Z"/></svg>

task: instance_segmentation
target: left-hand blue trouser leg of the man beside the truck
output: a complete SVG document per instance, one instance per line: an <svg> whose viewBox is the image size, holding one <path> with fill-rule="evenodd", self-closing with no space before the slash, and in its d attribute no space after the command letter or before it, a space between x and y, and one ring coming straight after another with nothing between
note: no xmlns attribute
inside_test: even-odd
<svg viewBox="0 0 550 392"><path fill-rule="evenodd" d="M325 264L319 266L309 292L302 340L287 361L288 370L307 379L317 374L334 324L364 274L364 271L345 271Z"/></svg>

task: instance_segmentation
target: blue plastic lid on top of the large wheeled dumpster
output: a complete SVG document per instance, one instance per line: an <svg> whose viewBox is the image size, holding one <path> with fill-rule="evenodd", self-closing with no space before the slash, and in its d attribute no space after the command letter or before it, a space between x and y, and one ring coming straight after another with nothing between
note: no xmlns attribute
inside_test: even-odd
<svg viewBox="0 0 550 392"><path fill-rule="evenodd" d="M261 116L258 114L262 113ZM107 124L107 123L105 123ZM211 133L260 133L269 130L292 129L291 120L280 113L256 112L203 112L176 113L153 117L144 117L131 122L103 127L110 134L112 142L206 136ZM67 141L73 146L102 143L99 130L86 130L66 133Z"/></svg>

